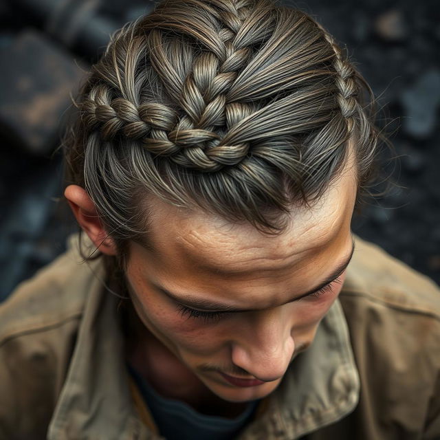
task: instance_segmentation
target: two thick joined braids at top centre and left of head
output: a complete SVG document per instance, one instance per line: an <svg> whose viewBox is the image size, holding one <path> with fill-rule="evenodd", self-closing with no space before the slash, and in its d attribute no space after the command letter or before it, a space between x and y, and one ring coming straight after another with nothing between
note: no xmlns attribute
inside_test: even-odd
<svg viewBox="0 0 440 440"><path fill-rule="evenodd" d="M228 144L215 130L224 125L232 126L236 122L232 115L237 109L243 118L252 113L252 104L226 100L237 72L243 69L252 52L250 47L234 44L250 6L246 1L219 2L218 5L223 10L217 18L224 27L215 35L213 52L202 52L195 58L192 71L181 85L179 103L185 113L180 119L177 112L165 104L136 106L123 98L113 99L110 89L98 84L91 89L82 107L83 120L89 130L99 126L103 140L112 140L120 133L140 140L147 151L168 156L186 168L215 171L239 164L247 155L250 143ZM159 30L151 30L148 43L151 47L162 45ZM155 63L162 77L166 76L161 72L163 61ZM209 66L209 76L206 76L206 66ZM229 111L228 106L234 111Z"/></svg>

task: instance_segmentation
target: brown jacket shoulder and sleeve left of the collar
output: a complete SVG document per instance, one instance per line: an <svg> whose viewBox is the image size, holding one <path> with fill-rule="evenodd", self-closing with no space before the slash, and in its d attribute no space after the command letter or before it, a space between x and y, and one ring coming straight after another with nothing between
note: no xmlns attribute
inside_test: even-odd
<svg viewBox="0 0 440 440"><path fill-rule="evenodd" d="M76 242L0 305L0 438L46 437L87 296L100 261L82 263Z"/></svg>

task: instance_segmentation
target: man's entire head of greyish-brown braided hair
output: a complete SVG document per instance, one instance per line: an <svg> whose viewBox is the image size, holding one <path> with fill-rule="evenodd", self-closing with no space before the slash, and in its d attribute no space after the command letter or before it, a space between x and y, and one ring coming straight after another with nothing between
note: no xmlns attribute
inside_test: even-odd
<svg viewBox="0 0 440 440"><path fill-rule="evenodd" d="M333 37L272 0L165 0L116 32L65 138L120 249L145 243L148 195L278 233L353 148L358 200L380 133L373 93ZM374 107L373 107L374 111Z"/></svg>

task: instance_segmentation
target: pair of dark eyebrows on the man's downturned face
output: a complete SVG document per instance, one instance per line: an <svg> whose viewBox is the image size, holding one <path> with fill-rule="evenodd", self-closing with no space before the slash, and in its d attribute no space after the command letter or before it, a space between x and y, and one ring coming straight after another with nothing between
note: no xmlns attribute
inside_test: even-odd
<svg viewBox="0 0 440 440"><path fill-rule="evenodd" d="M338 264L336 267L333 268L331 271L331 274L327 276L318 286L314 287L313 289L310 289L308 292L305 292L305 294L296 296L295 298L292 298L291 300L288 300L285 304L288 303L294 303L295 301L298 301L302 298L306 298L307 296L312 296L313 294L316 294L316 292L320 291L323 287L329 285L330 283L333 283L333 281L344 272L344 270L347 269L347 266L349 265L353 253L355 251L355 242L352 240L352 247L351 252L349 256L344 259L340 264ZM225 303L218 303L217 301L212 300L205 300L205 299L195 299L190 296L186 296L184 294L175 294L169 292L167 289L164 289L164 287L161 287L159 285L156 285L153 283L153 286L164 293L166 296L171 298L172 300L176 301L177 303L181 303L184 306L190 307L192 309L197 309L200 311L225 311L228 313L239 313L244 311L252 311L255 309L236 309L228 304Z"/></svg>

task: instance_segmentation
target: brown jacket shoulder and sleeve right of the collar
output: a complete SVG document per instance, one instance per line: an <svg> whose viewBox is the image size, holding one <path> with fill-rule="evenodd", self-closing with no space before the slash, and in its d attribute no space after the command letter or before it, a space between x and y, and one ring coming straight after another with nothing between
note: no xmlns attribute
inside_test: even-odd
<svg viewBox="0 0 440 440"><path fill-rule="evenodd" d="M365 439L439 439L439 287L356 237L339 298L361 393L353 415L338 426L354 423Z"/></svg>

